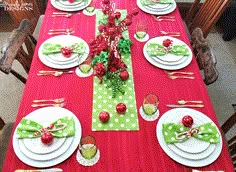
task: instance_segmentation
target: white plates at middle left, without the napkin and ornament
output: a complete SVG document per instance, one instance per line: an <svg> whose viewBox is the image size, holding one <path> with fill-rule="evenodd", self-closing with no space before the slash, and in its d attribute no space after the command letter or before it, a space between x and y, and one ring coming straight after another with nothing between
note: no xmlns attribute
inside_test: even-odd
<svg viewBox="0 0 236 172"><path fill-rule="evenodd" d="M61 44L62 46L71 46L75 43L80 43L80 42L83 42L85 45L85 53L81 56L77 54L72 54L72 57L66 58L61 53L58 53L57 55L50 54L49 56L42 53L43 45L45 43L58 43L58 44ZM44 41L40 45L39 50L38 50L40 61L46 66L55 68L55 69L68 69L68 68L78 66L84 60L86 60L86 58L88 57L88 54L89 54L88 44L83 39L77 36L73 36L73 35L58 35L58 36L51 37L47 39L46 41ZM77 57L79 59L77 59ZM58 60L56 60L57 58Z"/></svg>

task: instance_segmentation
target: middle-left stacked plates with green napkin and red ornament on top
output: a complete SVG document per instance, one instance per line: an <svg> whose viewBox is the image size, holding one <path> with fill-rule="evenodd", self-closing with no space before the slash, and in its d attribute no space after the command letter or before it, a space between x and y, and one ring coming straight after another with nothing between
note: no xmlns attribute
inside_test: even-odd
<svg viewBox="0 0 236 172"><path fill-rule="evenodd" d="M87 59L88 54L88 44L83 39L72 35L58 35L49 38L40 45L38 50L40 61L54 69L76 67Z"/></svg>

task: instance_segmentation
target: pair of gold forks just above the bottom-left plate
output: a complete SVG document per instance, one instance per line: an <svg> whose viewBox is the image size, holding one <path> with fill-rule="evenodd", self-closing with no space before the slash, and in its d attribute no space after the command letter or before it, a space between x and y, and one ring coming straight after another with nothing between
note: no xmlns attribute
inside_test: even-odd
<svg viewBox="0 0 236 172"><path fill-rule="evenodd" d="M66 103L64 98L33 100L32 107L64 107Z"/></svg>

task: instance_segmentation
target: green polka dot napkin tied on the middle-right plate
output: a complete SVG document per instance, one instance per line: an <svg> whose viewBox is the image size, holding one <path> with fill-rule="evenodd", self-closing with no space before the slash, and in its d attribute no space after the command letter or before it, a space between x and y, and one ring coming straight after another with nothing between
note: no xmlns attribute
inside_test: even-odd
<svg viewBox="0 0 236 172"><path fill-rule="evenodd" d="M190 54L187 45L172 45L167 48L158 43L148 43L146 51L149 56L163 56L167 53L181 56L188 56Z"/></svg>

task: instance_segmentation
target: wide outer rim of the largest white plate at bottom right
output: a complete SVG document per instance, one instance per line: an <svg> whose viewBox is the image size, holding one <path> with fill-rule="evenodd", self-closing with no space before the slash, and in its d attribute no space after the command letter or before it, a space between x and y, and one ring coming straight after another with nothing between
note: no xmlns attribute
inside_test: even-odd
<svg viewBox="0 0 236 172"><path fill-rule="evenodd" d="M183 157L183 155L179 155L179 151L182 151L181 149L176 147L176 150L178 151L178 153L175 151L173 151L173 147L171 147L172 149L170 149L169 145L165 143L164 141L164 137L163 137L163 133L162 133L162 124L169 122L168 119L173 117L173 119L175 118L176 123L180 122L182 120L182 117L185 115L190 115L193 117L194 116L198 116L198 119L201 119L202 121L204 121L204 123L207 122L212 122L213 121L208 118L206 115L204 115L203 113L196 111L194 109L189 109L189 108L175 108L175 109L171 109L169 111L167 111L166 113L164 113L161 118L159 119L158 123L157 123L157 127L156 127L156 134L157 134L157 140L160 144L160 146L162 147L162 149L165 151L165 153L171 157L173 160L179 162L180 164L186 165L186 166L191 166L191 167L203 167L206 165L211 164L212 162L214 162L220 155L221 150L222 150L222 137L220 134L220 131L218 130L217 126L217 131L220 134L220 142L215 145L215 148L213 150L213 152L211 152L211 150L213 148L211 148L210 146L207 148L207 150L205 150L206 152L202 153L204 155L202 155L201 153L198 153L198 155L195 155L196 159L190 159L187 158L186 156ZM194 124L195 125L195 124ZM193 125L193 127L194 127ZM191 138L192 140L195 138ZM197 140L197 139L195 139ZM187 140L186 142L188 142L189 140ZM197 144L198 142L196 142ZM176 145L176 144L175 144ZM194 145L194 144L193 144ZM195 146L195 148L197 147L197 145ZM175 149L175 148L174 148ZM191 148L193 149L193 148ZM211 153L209 153L209 152ZM184 151L183 151L184 152ZM192 150L192 154L194 154L194 151ZM187 152L184 152L187 153ZM208 154L208 156L206 156L206 154ZM205 156L205 158L204 158Z"/></svg>

